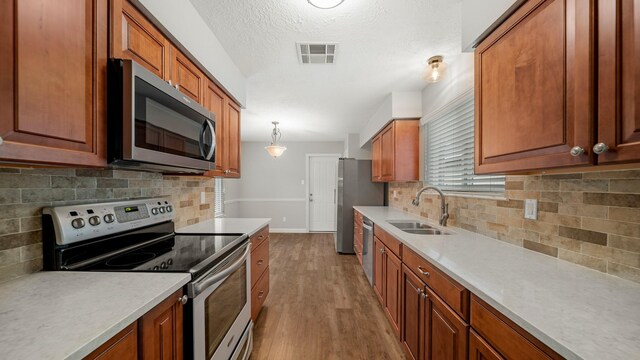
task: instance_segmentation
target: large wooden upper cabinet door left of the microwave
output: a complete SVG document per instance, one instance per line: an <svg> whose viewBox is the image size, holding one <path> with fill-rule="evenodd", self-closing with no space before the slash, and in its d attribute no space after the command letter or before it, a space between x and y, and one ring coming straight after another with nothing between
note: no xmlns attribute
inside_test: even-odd
<svg viewBox="0 0 640 360"><path fill-rule="evenodd" d="M0 2L0 161L106 166L106 0Z"/></svg>

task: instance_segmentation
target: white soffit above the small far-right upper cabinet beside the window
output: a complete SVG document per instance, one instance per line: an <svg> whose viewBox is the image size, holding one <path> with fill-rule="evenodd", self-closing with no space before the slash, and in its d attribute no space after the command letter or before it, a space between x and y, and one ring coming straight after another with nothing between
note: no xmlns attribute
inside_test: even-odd
<svg viewBox="0 0 640 360"><path fill-rule="evenodd" d="M390 93L360 132L360 146L369 143L369 140L393 119L411 119L421 116L422 97L420 91Z"/></svg>

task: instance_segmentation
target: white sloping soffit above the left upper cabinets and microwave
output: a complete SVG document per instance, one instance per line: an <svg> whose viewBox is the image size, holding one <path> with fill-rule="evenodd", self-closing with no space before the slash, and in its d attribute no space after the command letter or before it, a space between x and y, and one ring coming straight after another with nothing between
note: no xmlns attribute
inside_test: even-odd
<svg viewBox="0 0 640 360"><path fill-rule="evenodd" d="M188 0L137 0L243 107L245 77Z"/></svg>

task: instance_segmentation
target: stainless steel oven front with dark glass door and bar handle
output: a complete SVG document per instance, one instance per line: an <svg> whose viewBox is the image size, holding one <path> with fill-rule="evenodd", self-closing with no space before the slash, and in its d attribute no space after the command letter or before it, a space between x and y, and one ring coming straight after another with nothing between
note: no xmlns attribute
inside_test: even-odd
<svg viewBox="0 0 640 360"><path fill-rule="evenodd" d="M189 285L194 359L228 360L238 344L250 340L245 332L251 329L250 253L247 243Z"/></svg>

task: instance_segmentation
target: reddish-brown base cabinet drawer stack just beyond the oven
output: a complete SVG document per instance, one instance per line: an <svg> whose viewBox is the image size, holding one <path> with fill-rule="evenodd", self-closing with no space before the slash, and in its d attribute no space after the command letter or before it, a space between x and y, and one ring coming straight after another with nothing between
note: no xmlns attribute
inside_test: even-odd
<svg viewBox="0 0 640 360"><path fill-rule="evenodd" d="M260 315L269 295L269 226L251 236L251 320Z"/></svg>

